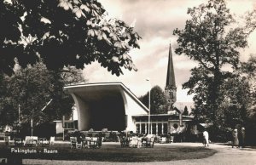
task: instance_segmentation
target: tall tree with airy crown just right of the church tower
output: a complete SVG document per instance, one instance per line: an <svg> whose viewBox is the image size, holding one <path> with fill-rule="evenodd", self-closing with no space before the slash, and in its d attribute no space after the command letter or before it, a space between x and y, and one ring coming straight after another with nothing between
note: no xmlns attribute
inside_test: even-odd
<svg viewBox="0 0 256 165"><path fill-rule="evenodd" d="M199 62L192 69L192 77L183 88L195 93L195 103L206 111L207 118L218 122L221 100L220 87L232 74L224 71L230 65L236 70L239 65L239 48L247 46L246 28L235 27L236 20L227 9L224 0L210 0L207 4L188 9L190 20L183 30L176 29L177 54L185 54ZM197 108L196 107L196 108Z"/></svg>

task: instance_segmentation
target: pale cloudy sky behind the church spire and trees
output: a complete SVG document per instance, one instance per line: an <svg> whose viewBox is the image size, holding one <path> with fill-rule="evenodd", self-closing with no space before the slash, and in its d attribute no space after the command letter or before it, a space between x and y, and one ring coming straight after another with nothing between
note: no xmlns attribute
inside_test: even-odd
<svg viewBox="0 0 256 165"><path fill-rule="evenodd" d="M182 89L182 84L190 77L190 70L197 65L185 55L174 53L177 48L177 37L173 30L183 29L188 8L198 7L207 0L98 0L112 18L124 20L127 25L135 25L134 30L142 37L139 49L131 49L129 53L138 71L123 69L124 75L116 77L107 69L95 62L86 65L84 77L88 83L121 82L137 97L146 94L155 85L164 90L166 87L166 72L169 44L172 45L172 59L177 85L177 102L192 102L193 95L187 95L188 89ZM256 9L255 0L228 0L227 6L231 14L237 18L248 10ZM241 60L248 59L250 54L256 54L256 32L248 39L248 48L241 49ZM146 81L149 79L150 81Z"/></svg>

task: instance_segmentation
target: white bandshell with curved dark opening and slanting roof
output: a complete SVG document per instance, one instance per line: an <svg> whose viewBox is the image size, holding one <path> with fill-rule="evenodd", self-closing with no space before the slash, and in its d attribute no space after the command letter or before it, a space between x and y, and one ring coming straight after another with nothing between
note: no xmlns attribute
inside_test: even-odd
<svg viewBox="0 0 256 165"><path fill-rule="evenodd" d="M80 131L136 131L134 116L148 108L123 83L88 83L67 86L78 111Z"/></svg>

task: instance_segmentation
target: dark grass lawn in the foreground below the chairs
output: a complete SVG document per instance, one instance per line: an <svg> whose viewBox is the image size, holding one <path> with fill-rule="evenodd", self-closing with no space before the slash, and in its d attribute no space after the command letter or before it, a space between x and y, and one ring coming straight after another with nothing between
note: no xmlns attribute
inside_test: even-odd
<svg viewBox="0 0 256 165"><path fill-rule="evenodd" d="M101 162L165 162L183 159L201 159L212 156L217 151L205 147L172 145L155 145L154 148L121 148L119 144L103 144L100 149L70 149L68 144L55 144L50 147L15 147L34 149L36 151L58 151L58 153L11 153L11 147L0 145L0 156L21 156L28 159L49 160L87 160Z"/></svg>

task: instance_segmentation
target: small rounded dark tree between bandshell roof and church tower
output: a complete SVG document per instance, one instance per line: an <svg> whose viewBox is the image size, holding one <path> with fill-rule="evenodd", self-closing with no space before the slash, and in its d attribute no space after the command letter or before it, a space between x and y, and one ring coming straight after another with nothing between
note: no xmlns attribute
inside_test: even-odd
<svg viewBox="0 0 256 165"><path fill-rule="evenodd" d="M148 93L139 98L148 107ZM150 113L162 114L167 112L165 93L159 86L150 89Z"/></svg>

